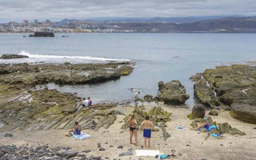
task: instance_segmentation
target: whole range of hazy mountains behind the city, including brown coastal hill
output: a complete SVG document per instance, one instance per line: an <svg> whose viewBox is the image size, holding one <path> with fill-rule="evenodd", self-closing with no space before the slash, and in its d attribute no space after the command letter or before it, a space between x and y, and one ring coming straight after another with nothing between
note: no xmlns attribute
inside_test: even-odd
<svg viewBox="0 0 256 160"><path fill-rule="evenodd" d="M221 17L221 16L220 16ZM214 19L207 19L214 18ZM76 20L76 19L72 19ZM61 22L72 21L64 19ZM84 19L85 20L85 19ZM95 19L103 20L103 19ZM127 19L119 19L127 21ZM143 19L129 19L132 23L121 23L112 20L109 25L118 25L123 30L136 30L138 32L150 32L151 29L157 28L159 32L229 32L229 33L255 33L256 17L233 16L218 18L218 16L208 17L185 17L185 18L161 18L155 17L148 21ZM138 21L135 21L138 20ZM140 21L139 21L140 20ZM86 20L92 21L92 20ZM135 21L135 22L134 22ZM152 21L152 22L151 22ZM163 22L165 21L165 22ZM170 21L170 22L167 22ZM181 23L183 22L183 23Z"/></svg>

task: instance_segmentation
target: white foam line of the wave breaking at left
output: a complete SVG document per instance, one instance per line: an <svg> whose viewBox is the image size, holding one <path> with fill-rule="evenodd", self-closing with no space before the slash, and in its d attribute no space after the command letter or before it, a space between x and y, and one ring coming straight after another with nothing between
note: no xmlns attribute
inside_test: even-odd
<svg viewBox="0 0 256 160"><path fill-rule="evenodd" d="M90 57L90 56L57 56L57 55L40 55L40 54L30 54L28 52L22 51L19 55L28 56L29 58L66 58L66 59L84 59L84 60L97 60L97 61L107 61L107 60L122 60L130 61L126 59L112 59L112 58L100 58L100 57Z"/></svg>

